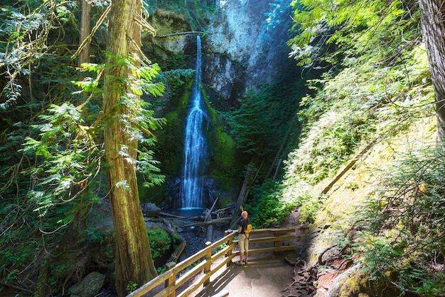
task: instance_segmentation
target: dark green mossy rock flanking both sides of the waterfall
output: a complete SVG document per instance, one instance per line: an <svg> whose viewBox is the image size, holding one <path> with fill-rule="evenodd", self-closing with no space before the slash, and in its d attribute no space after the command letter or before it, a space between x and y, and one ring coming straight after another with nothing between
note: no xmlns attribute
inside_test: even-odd
<svg viewBox="0 0 445 297"><path fill-rule="evenodd" d="M140 189L140 197L143 202L153 202L161 207L168 207L173 203L171 201L172 194L168 192L178 191L178 189L174 189L173 184L178 184L182 174L183 130L193 83L193 80L188 81L178 90L177 93L181 95L171 98L166 104L164 112L167 125L156 133L158 142L155 148L156 160L161 161L161 171L166 174L166 183L153 189ZM216 182L220 197L219 204L226 206L237 197L242 183L239 178L240 172L244 165L239 162L240 152L237 151L235 142L227 131L225 121L218 115L218 110L213 108L205 87L201 88L201 92L210 121L208 126L210 163L205 175L206 179Z"/></svg>

